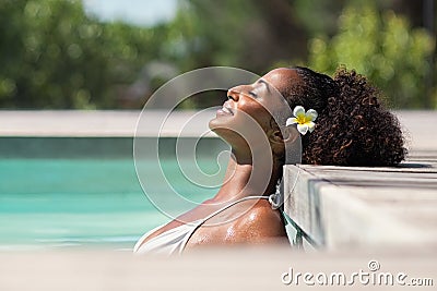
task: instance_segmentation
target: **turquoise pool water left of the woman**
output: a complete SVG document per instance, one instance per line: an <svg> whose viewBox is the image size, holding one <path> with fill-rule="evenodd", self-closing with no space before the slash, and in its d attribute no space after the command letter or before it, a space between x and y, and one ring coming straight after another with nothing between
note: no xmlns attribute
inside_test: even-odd
<svg viewBox="0 0 437 291"><path fill-rule="evenodd" d="M200 165L216 171L213 159ZM216 192L187 182L173 159L162 166L185 198L201 202ZM154 183L161 174L155 165L143 174L151 181L147 191L164 202L168 197L174 211L184 210L166 185ZM130 250L141 234L169 219L144 194L131 158L0 160L0 250Z"/></svg>

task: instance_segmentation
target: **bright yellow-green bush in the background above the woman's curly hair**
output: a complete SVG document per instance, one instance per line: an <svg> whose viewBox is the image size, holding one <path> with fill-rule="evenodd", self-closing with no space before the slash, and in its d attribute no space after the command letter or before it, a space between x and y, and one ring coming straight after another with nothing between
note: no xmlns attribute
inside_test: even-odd
<svg viewBox="0 0 437 291"><path fill-rule="evenodd" d="M371 1L355 1L339 19L339 32L310 41L309 64L333 73L339 64L366 75L397 108L429 107L425 76L435 39L392 11L379 13Z"/></svg>

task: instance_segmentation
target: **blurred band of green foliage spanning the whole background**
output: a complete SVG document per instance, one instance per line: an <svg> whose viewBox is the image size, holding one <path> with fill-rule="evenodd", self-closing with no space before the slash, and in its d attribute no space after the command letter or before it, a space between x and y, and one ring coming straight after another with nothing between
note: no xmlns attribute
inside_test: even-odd
<svg viewBox="0 0 437 291"><path fill-rule="evenodd" d="M344 3L352 4L336 27ZM432 94L423 80L435 40L370 3L179 0L173 21L138 27L102 23L85 14L81 0L0 0L0 108L140 108L168 78L156 74L163 65L153 63L174 72L229 65L258 74L293 64L332 73L343 63L382 88L391 105L429 108ZM145 71L156 76L145 80ZM132 84L141 87L134 96ZM437 87L433 92L437 100ZM181 107L217 105L223 98L198 96Z"/></svg>

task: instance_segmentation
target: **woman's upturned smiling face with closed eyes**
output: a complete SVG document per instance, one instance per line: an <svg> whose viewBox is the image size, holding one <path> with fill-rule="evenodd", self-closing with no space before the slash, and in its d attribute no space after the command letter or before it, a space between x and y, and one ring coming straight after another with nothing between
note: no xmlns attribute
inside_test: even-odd
<svg viewBox="0 0 437 291"><path fill-rule="evenodd" d="M255 138L252 135L260 135L260 130L270 138L273 131L277 132L272 128L272 112L285 108L282 95L288 94L296 82L302 80L294 69L275 69L253 84L231 88L228 100L210 121L210 129L232 146L247 144L247 140Z"/></svg>

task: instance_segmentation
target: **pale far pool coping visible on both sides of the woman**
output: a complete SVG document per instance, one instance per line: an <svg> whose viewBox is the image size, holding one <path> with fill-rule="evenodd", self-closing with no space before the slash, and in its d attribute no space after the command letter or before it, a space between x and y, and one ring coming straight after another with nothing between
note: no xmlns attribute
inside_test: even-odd
<svg viewBox="0 0 437 291"><path fill-rule="evenodd" d="M0 110L0 136L72 136L72 137L132 137L141 111L130 110ZM141 128L141 136L156 136L157 129L166 118L167 111L146 111L147 122ZM161 136L206 136L216 137L209 132L208 122L215 114L206 110L174 111ZM395 111L405 133L410 148L414 150L437 149L437 111ZM196 116L196 122L189 122ZM186 126L189 122L189 126Z"/></svg>

